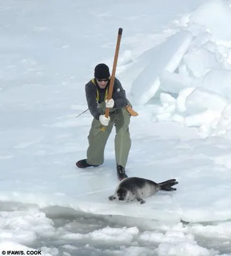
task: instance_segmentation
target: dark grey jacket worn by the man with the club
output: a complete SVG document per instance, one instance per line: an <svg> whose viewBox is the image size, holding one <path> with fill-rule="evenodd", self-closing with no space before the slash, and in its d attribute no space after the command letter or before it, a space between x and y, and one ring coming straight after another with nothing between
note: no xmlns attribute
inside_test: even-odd
<svg viewBox="0 0 231 256"><path fill-rule="evenodd" d="M94 80L94 82L95 84L92 82L92 80L90 80L85 85L85 92L86 92L86 99L87 99L87 105L88 105L89 111L93 115L93 117L98 120L98 118L102 114L102 111L99 109L98 105L104 102L106 89L108 88L109 90L110 80L108 81L108 84L105 89L101 89L98 86L96 80ZM96 100L97 91L99 95L98 102ZM123 108L128 104L125 90L123 90L120 81L116 77L114 79L112 98L114 100L113 110L116 110L117 108Z"/></svg>

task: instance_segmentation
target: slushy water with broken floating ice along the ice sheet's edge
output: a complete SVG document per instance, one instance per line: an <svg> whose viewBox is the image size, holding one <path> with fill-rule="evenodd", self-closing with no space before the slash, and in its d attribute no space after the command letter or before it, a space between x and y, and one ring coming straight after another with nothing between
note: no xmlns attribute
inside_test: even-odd
<svg viewBox="0 0 231 256"><path fill-rule="evenodd" d="M231 221L168 223L2 203L0 247L42 255L231 255ZM25 249L26 250L26 249Z"/></svg>

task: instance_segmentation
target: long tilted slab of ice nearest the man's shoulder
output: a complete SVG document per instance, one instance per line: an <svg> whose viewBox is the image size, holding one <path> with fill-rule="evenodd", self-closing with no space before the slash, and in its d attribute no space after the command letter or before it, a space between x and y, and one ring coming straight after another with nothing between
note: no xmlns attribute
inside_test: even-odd
<svg viewBox="0 0 231 256"><path fill-rule="evenodd" d="M146 63L145 68L131 86L134 103L143 105L154 96L160 87L162 72L175 71L191 42L191 33L182 30L150 51L151 61Z"/></svg>

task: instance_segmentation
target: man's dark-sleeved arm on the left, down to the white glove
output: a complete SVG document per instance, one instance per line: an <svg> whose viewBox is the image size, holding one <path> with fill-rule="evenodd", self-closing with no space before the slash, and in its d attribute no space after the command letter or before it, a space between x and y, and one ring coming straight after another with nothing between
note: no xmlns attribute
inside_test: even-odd
<svg viewBox="0 0 231 256"><path fill-rule="evenodd" d="M96 102L97 92L94 84L90 81L85 86L87 105L90 113L95 119L100 117L100 111L98 111L98 105Z"/></svg>

